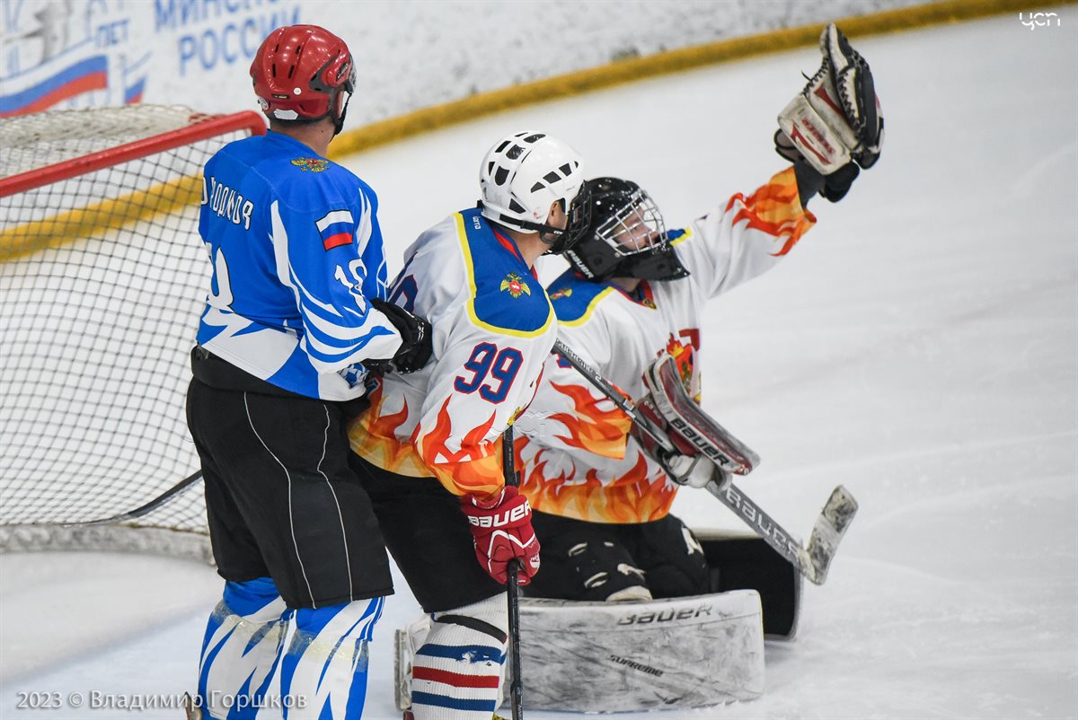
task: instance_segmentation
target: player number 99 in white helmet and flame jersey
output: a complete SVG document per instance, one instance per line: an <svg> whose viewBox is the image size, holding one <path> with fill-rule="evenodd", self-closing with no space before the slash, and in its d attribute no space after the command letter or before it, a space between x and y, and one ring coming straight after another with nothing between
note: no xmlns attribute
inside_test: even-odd
<svg viewBox="0 0 1078 720"><path fill-rule="evenodd" d="M390 290L430 320L434 360L387 375L349 434L386 544L431 613L413 667L416 720L490 720L501 698L508 563L521 560L522 583L539 567L527 502L505 485L501 433L554 344L534 264L585 226L582 186L582 161L562 140L499 140L480 168L479 207L423 233Z"/></svg>

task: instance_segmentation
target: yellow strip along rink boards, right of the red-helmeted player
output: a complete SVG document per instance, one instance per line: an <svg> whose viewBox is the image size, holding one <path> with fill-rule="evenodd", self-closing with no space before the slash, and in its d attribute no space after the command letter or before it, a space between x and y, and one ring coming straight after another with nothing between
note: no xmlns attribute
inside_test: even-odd
<svg viewBox="0 0 1078 720"><path fill-rule="evenodd" d="M1073 1L1070 0L1070 2ZM958 23L1003 13L1028 13L1031 9L1039 11L1044 8L1061 4L1067 4L1067 2L1064 0L1037 0L1035 2L1029 0L948 0L946 2L847 17L834 20L834 23L847 37L856 41L867 36L898 32L944 23ZM1014 25L1017 30L1022 29L1018 17L1014 18ZM364 150L503 110L581 95L613 85L708 65L779 53L796 47L815 46L819 43L819 34L825 26L826 23L818 23L761 34L719 40L644 57L616 60L585 70L480 93L444 105L421 108L404 115L389 117L342 133L333 141L329 156L333 160L340 160Z"/></svg>

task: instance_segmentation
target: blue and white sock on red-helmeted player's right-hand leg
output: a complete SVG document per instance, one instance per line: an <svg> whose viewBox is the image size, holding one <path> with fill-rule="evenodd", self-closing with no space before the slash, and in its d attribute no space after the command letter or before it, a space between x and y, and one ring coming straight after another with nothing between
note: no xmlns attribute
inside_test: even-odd
<svg viewBox="0 0 1078 720"><path fill-rule="evenodd" d="M289 612L280 663L280 707L286 720L345 720L363 714L368 642L385 598ZM268 710L268 708L267 708ZM280 717L264 712L265 717Z"/></svg>

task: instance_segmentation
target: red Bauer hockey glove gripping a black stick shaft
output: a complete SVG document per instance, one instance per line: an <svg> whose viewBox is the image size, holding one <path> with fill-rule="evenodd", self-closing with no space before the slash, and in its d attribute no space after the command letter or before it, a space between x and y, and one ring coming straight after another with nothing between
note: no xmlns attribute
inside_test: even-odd
<svg viewBox="0 0 1078 720"><path fill-rule="evenodd" d="M515 487L503 487L488 500L475 495L460 498L475 541L475 557L487 573L501 584L508 579L509 563L521 560L516 581L531 582L539 571L539 540L531 529L531 507Z"/></svg>

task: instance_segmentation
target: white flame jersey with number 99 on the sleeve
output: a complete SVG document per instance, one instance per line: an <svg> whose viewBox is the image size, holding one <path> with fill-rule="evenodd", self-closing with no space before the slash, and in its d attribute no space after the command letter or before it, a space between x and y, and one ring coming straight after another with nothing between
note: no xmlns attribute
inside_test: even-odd
<svg viewBox="0 0 1078 720"><path fill-rule="evenodd" d="M505 484L501 433L535 396L554 310L513 240L478 209L424 233L405 258L390 300L430 321L433 356L378 380L349 428L351 447L456 495L493 494Z"/></svg>

